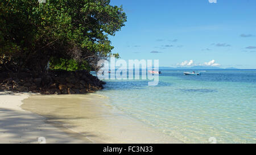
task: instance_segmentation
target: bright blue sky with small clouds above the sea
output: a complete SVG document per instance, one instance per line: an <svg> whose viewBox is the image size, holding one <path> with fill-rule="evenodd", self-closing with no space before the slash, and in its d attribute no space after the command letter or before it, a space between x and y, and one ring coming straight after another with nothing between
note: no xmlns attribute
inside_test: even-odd
<svg viewBox="0 0 256 155"><path fill-rule="evenodd" d="M125 60L159 59L159 66L172 67L256 68L255 0L112 0L111 4L123 5L127 14L126 26L110 36L113 52Z"/></svg>

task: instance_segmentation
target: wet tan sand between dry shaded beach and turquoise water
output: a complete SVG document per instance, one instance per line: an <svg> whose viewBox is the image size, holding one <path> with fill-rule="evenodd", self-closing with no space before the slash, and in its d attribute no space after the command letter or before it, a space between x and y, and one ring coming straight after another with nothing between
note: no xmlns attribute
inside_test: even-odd
<svg viewBox="0 0 256 155"><path fill-rule="evenodd" d="M101 95L31 95L21 107L91 143L181 143L123 114Z"/></svg>

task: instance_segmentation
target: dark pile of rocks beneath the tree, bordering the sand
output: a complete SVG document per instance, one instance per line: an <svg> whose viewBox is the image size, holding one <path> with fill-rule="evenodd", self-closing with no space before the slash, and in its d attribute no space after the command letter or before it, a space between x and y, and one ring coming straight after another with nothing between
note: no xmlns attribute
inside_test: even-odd
<svg viewBox="0 0 256 155"><path fill-rule="evenodd" d="M103 89L104 81L100 81L86 70L67 72L49 70L39 75L30 72L0 74L0 91L31 92L50 94L85 94Z"/></svg>

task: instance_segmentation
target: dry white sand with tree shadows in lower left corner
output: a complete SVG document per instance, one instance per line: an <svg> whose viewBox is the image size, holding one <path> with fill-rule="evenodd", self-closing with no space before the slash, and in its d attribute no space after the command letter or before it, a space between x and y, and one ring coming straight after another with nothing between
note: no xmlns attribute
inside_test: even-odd
<svg viewBox="0 0 256 155"><path fill-rule="evenodd" d="M20 108L29 94L0 93L0 143L92 143L78 133L46 123L46 118Z"/></svg>

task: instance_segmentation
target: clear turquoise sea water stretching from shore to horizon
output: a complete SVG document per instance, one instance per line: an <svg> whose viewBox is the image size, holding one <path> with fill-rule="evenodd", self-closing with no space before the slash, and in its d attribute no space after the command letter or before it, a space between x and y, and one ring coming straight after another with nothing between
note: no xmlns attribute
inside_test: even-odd
<svg viewBox="0 0 256 155"><path fill-rule="evenodd" d="M256 70L162 70L145 80L105 80L97 94L125 114L184 143L256 143Z"/></svg>

